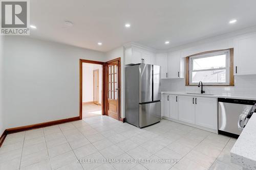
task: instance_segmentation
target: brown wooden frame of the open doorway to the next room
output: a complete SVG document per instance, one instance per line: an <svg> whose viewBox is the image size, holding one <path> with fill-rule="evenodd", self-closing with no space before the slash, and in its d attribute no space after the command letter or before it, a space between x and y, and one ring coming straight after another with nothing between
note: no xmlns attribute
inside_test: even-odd
<svg viewBox="0 0 256 170"><path fill-rule="evenodd" d="M101 99L105 99L105 63L100 61L93 61L93 60L79 60L79 119L82 119L82 63L91 63L91 64L100 64L102 65L102 96ZM105 114L105 100L101 100L101 108L102 108L102 115Z"/></svg>

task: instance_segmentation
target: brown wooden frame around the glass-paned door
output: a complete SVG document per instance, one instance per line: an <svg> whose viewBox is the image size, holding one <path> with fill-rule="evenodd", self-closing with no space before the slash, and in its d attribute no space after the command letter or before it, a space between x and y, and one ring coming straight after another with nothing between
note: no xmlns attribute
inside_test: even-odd
<svg viewBox="0 0 256 170"><path fill-rule="evenodd" d="M108 89L106 89L107 88L107 86L106 86L106 84L108 83L108 78L107 78L107 74L106 74L106 72L107 72L107 70L106 69L108 69L107 67L106 67L106 64L108 64L108 63L110 63L110 62L114 62L114 61L118 61L118 88L119 88L119 92L118 92L118 120L120 120L120 121L123 121L122 120L122 118L121 118L121 58L119 57L119 58L116 58L116 59L113 59L113 60L110 60L110 61L107 61L107 62L105 62L105 67L104 67L104 69L105 69L105 74L104 74L104 77L105 77L105 80L104 80L104 88L105 88L105 91L104 91L104 102L105 102L105 108L104 108L104 110L105 110L105 114L106 114L106 111L108 111L108 106L106 105L106 101L108 101ZM103 99L103 98L102 98Z"/></svg>

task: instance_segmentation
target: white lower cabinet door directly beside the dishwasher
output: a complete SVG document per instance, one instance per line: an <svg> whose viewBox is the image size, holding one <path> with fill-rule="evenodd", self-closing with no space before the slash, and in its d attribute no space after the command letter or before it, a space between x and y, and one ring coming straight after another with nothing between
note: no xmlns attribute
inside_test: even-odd
<svg viewBox="0 0 256 170"><path fill-rule="evenodd" d="M216 98L195 99L195 123L196 125L217 129L217 101Z"/></svg>

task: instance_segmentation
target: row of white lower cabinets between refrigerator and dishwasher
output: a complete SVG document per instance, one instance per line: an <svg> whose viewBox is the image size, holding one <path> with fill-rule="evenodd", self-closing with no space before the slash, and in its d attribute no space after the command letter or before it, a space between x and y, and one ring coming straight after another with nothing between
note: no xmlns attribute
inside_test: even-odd
<svg viewBox="0 0 256 170"><path fill-rule="evenodd" d="M162 94L162 116L195 127L217 130L217 99Z"/></svg>

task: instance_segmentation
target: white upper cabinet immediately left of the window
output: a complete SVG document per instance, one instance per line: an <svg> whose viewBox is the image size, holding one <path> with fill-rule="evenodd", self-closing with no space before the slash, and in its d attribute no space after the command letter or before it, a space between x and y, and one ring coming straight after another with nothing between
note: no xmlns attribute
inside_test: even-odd
<svg viewBox="0 0 256 170"><path fill-rule="evenodd" d="M168 53L168 78L184 78L185 58L180 52Z"/></svg>

